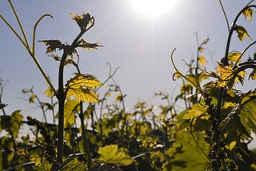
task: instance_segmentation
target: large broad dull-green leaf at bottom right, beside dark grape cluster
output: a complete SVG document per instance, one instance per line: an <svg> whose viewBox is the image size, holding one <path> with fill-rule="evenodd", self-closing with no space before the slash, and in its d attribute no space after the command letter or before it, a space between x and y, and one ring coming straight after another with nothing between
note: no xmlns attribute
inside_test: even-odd
<svg viewBox="0 0 256 171"><path fill-rule="evenodd" d="M162 169L164 171L198 171L209 167L210 145L204 141L205 133L195 132L193 136L188 131L176 133L176 141L181 143L171 147L166 154L171 158ZM203 153L202 153L203 152Z"/></svg>

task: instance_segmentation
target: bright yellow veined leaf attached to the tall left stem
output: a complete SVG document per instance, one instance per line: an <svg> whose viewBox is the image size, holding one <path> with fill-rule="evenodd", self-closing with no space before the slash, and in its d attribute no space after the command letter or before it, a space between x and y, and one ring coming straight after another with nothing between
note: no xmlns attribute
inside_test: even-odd
<svg viewBox="0 0 256 171"><path fill-rule="evenodd" d="M96 78L91 75L77 74L71 78L66 84L66 97L75 97L78 101L96 102L98 95L90 88L102 86Z"/></svg>

